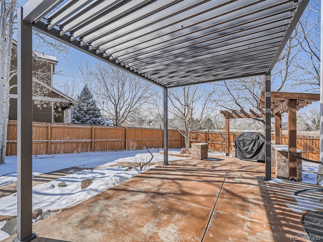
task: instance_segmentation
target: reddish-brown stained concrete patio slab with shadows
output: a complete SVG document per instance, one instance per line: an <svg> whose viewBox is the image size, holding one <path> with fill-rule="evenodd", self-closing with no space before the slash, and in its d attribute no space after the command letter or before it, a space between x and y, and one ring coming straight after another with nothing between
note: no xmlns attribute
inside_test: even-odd
<svg viewBox="0 0 323 242"><path fill-rule="evenodd" d="M316 186L263 174L232 157L173 161L34 224L33 241L309 241L299 220L323 194L296 197Z"/></svg>

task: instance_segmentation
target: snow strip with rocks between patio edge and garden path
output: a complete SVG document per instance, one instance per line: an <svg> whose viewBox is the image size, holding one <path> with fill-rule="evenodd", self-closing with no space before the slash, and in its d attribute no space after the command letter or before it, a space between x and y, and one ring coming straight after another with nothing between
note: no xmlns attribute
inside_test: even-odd
<svg viewBox="0 0 323 242"><path fill-rule="evenodd" d="M33 210L41 208L46 211L72 207L141 173L135 168L130 171L125 169L117 166L82 170L37 185L33 187ZM92 184L81 190L81 181L90 178L93 178ZM58 186L63 181L67 187ZM17 215L17 193L0 199L0 211L3 215Z"/></svg>

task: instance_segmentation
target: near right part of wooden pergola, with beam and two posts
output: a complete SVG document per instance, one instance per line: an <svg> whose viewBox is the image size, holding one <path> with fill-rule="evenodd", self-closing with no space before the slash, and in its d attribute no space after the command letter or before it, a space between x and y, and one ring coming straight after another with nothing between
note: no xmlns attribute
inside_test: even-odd
<svg viewBox="0 0 323 242"><path fill-rule="evenodd" d="M313 93L293 93L293 92L271 92L271 112L275 117L275 144L282 144L282 114L288 113L288 151L297 152L296 134L296 111L319 101L320 94ZM261 92L260 105L264 107L264 92ZM297 178L296 162L297 158L291 154L289 160L289 178Z"/></svg>

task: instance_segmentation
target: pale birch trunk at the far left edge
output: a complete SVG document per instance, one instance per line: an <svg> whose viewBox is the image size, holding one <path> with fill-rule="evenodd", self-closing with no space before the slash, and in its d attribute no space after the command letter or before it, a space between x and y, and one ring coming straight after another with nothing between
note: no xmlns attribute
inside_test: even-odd
<svg viewBox="0 0 323 242"><path fill-rule="evenodd" d="M1 1L0 6L0 163L5 163L9 119L10 68L13 24L17 0Z"/></svg>

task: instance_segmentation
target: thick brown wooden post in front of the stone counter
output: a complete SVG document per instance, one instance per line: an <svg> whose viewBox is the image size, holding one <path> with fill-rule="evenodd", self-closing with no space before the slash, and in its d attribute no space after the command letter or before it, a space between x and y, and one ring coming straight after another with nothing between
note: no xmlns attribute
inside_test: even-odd
<svg viewBox="0 0 323 242"><path fill-rule="evenodd" d="M288 149L296 154L297 134L296 134L296 99L288 102ZM289 179L297 180L297 158L288 153Z"/></svg>

